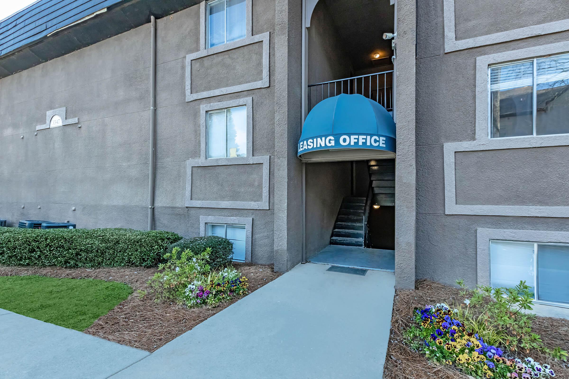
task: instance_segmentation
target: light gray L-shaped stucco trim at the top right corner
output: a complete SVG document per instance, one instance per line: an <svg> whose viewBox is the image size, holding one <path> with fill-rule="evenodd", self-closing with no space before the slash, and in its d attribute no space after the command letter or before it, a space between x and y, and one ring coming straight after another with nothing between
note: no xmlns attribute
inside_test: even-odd
<svg viewBox="0 0 569 379"><path fill-rule="evenodd" d="M455 0L444 0L444 52L446 53L532 36L562 32L565 30L569 30L569 19L526 26L475 38L456 40Z"/></svg>

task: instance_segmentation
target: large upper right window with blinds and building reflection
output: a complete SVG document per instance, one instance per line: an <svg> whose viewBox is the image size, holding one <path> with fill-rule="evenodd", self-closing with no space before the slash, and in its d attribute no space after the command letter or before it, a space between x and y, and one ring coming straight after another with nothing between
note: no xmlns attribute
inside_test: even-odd
<svg viewBox="0 0 569 379"><path fill-rule="evenodd" d="M569 54L489 68L490 138L569 133Z"/></svg>

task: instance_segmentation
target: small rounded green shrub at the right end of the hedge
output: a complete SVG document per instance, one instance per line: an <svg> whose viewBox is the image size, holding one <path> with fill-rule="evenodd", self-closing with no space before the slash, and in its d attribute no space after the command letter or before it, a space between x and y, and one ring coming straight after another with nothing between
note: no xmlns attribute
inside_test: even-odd
<svg viewBox="0 0 569 379"><path fill-rule="evenodd" d="M179 247L180 251L190 249L192 253L201 253L208 247L211 248L208 263L212 268L229 265L231 263L229 257L233 254L232 241L218 236L184 238L168 246L168 252L171 253L175 247Z"/></svg>

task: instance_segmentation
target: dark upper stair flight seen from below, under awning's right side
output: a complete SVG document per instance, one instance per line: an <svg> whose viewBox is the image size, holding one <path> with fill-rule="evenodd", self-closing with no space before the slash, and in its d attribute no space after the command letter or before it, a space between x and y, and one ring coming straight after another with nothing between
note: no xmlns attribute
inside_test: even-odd
<svg viewBox="0 0 569 379"><path fill-rule="evenodd" d="M395 205L395 160L368 161L369 178L372 183L372 205Z"/></svg>

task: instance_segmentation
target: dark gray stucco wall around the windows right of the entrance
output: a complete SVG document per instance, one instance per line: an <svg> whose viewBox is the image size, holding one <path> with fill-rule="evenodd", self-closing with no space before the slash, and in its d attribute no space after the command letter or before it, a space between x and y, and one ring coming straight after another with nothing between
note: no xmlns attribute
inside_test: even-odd
<svg viewBox="0 0 569 379"><path fill-rule="evenodd" d="M456 6L456 25L452 26L445 25L450 17L444 14L451 2ZM495 43L503 37L520 37L486 35L554 22L567 18L569 12L566 2L556 0L527 0L509 7L511 4L506 0L417 3L417 278L447 284L464 278L475 285L480 259L477 228L563 231L569 227L567 218L531 213L500 216L446 211L444 144L476 140L477 57L569 39L569 32L560 31ZM456 31L457 43L449 49L450 28ZM470 40L475 37L479 39ZM464 48L466 39L477 47ZM453 51L456 48L459 50ZM399 109L401 103L397 106ZM477 151L456 152L456 185L450 189L456 191L456 204L484 205L482 212L488 214L497 205L567 206L562 178L567 177L569 146L513 149L506 148L504 141L501 149L500 143L492 144L492 150L485 150L481 142Z"/></svg>

